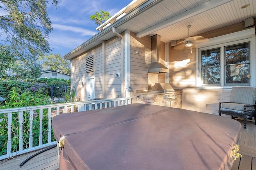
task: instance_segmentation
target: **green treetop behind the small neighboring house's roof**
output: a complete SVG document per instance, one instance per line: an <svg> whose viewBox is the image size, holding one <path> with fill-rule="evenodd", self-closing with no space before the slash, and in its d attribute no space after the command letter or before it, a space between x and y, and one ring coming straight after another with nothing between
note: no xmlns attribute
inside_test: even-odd
<svg viewBox="0 0 256 170"><path fill-rule="evenodd" d="M40 56L40 62L44 70L56 70L70 74L70 61L62 59L60 54L50 54Z"/></svg>

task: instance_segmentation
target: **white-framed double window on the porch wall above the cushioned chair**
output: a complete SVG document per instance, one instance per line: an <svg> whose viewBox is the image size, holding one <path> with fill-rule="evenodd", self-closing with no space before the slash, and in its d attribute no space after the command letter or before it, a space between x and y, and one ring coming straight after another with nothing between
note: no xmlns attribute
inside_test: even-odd
<svg viewBox="0 0 256 170"><path fill-rule="evenodd" d="M255 87L255 29L210 38L197 45L196 87ZM252 75L251 75L252 74Z"/></svg>

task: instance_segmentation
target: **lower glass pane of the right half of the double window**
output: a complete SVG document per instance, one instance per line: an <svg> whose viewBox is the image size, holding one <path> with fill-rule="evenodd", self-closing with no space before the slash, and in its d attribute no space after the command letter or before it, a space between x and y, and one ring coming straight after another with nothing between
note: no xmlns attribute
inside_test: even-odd
<svg viewBox="0 0 256 170"><path fill-rule="evenodd" d="M227 65L226 84L249 84L249 64Z"/></svg>

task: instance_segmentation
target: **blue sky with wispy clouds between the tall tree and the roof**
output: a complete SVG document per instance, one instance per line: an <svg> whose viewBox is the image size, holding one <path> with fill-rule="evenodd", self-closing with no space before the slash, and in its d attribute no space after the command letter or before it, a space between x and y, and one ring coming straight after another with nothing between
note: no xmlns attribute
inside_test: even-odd
<svg viewBox="0 0 256 170"><path fill-rule="evenodd" d="M111 16L132 0L62 0L57 9L49 7L48 17L53 31L49 36L50 53L64 56L98 33L90 16L104 10Z"/></svg>

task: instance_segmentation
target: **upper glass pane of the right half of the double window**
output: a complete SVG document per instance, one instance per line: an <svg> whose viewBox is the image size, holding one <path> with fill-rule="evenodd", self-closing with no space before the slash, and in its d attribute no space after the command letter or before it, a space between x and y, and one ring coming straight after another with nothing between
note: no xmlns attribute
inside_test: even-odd
<svg viewBox="0 0 256 170"><path fill-rule="evenodd" d="M249 43L230 45L226 47L226 64L248 63Z"/></svg>

